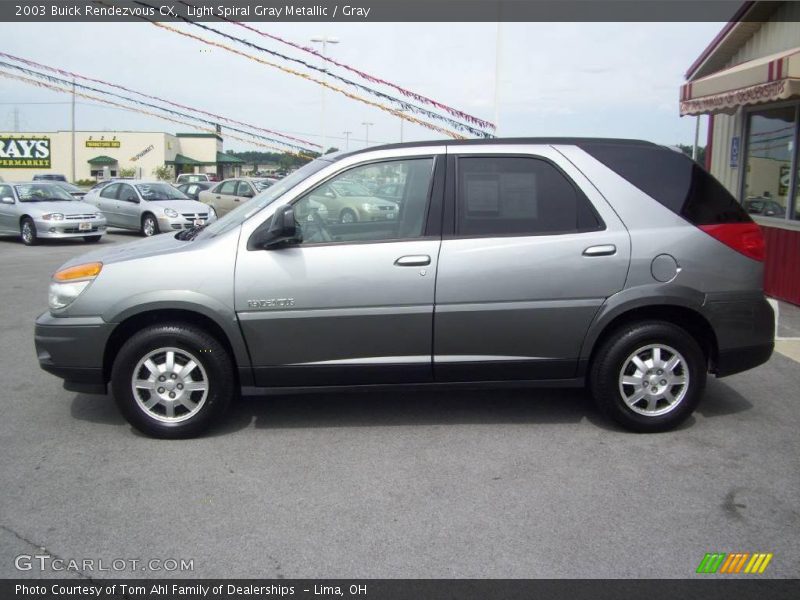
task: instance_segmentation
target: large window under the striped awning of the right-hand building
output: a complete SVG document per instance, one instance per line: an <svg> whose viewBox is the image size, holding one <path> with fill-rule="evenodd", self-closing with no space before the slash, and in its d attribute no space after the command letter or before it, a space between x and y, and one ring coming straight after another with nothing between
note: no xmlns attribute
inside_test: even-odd
<svg viewBox="0 0 800 600"><path fill-rule="evenodd" d="M793 184L792 158L797 146L798 106L753 111L747 121L745 210L751 215L800 218L800 203L789 194Z"/></svg>

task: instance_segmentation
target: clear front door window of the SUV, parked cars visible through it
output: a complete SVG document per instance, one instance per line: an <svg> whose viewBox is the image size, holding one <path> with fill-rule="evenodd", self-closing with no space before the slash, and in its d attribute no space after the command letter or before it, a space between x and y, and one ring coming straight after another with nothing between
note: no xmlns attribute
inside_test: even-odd
<svg viewBox="0 0 800 600"><path fill-rule="evenodd" d="M370 163L348 169L294 204L302 243L374 242L422 237L433 158ZM402 205L370 191L396 182Z"/></svg>

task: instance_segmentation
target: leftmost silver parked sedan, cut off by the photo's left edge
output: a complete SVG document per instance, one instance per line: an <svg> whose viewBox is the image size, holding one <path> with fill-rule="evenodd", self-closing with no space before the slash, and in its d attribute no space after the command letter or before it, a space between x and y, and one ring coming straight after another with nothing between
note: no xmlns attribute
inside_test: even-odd
<svg viewBox="0 0 800 600"><path fill-rule="evenodd" d="M2 235L18 235L33 246L44 238L99 242L105 232L105 217L56 183L0 183Z"/></svg>

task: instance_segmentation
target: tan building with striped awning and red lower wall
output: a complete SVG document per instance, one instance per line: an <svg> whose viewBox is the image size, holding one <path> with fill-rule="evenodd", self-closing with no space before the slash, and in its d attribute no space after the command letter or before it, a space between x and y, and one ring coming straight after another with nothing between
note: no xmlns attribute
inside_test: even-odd
<svg viewBox="0 0 800 600"><path fill-rule="evenodd" d="M706 168L761 226L764 287L800 304L800 4L745 2L689 67L681 115L709 115Z"/></svg>

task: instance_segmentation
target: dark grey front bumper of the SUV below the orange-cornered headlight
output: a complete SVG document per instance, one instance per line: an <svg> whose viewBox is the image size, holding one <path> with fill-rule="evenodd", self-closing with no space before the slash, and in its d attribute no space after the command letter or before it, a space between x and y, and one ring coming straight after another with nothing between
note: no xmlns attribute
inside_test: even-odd
<svg viewBox="0 0 800 600"><path fill-rule="evenodd" d="M39 315L34 333L39 366L63 379L67 390L106 393L103 356L113 328L100 317Z"/></svg>

